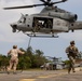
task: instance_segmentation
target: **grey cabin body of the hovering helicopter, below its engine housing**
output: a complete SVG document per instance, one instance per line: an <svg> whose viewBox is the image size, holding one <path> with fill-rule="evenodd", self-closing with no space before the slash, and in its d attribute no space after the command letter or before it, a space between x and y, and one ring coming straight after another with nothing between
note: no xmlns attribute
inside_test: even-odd
<svg viewBox="0 0 82 81"><path fill-rule="evenodd" d="M17 23L13 23L11 26L13 29L22 30L24 32L33 31L50 33L51 31L68 31L69 23L57 17L30 15L24 16Z"/></svg>

